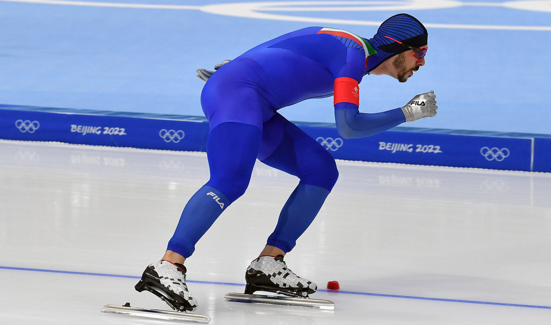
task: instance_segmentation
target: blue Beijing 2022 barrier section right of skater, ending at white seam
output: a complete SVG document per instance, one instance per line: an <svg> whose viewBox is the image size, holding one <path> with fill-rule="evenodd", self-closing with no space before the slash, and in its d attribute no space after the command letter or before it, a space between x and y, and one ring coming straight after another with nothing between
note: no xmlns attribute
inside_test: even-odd
<svg viewBox="0 0 551 325"><path fill-rule="evenodd" d="M306 133L339 159L431 166L532 170L528 137L494 137L394 128L363 139L341 140L335 128L307 126Z"/></svg>

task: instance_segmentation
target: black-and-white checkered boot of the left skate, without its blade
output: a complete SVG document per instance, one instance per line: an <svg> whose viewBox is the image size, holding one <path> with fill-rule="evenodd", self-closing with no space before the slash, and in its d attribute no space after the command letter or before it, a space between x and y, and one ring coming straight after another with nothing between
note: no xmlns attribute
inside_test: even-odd
<svg viewBox="0 0 551 325"><path fill-rule="evenodd" d="M186 267L179 263L162 260L150 264L145 268L136 290L152 292L175 310L197 309L197 301L187 289Z"/></svg>

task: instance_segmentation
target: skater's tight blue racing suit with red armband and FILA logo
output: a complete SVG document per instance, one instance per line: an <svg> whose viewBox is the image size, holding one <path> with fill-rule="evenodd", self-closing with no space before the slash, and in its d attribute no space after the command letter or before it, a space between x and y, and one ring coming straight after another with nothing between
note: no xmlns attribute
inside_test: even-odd
<svg viewBox="0 0 551 325"><path fill-rule="evenodd" d="M400 108L358 111L358 84L368 74L366 62L373 53L365 38L350 32L307 27L262 43L218 69L201 94L210 122L210 179L183 209L168 250L192 255L199 238L244 194L257 158L300 179L267 241L285 252L293 249L338 172L327 150L277 110L334 94L337 130L345 138L369 136L405 122Z"/></svg>

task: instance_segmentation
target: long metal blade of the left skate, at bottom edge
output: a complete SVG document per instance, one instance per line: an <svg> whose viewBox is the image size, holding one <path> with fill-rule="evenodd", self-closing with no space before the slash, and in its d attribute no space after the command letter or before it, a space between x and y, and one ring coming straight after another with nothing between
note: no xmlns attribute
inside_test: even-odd
<svg viewBox="0 0 551 325"><path fill-rule="evenodd" d="M165 321L191 321L191 322L200 322L200 323L210 322L210 317L208 317L207 315L199 315L196 313L178 312L178 311L169 311L169 310L160 310L160 309L145 309L145 308L130 307L130 306L105 305L101 309L101 312L117 313L121 315L138 316L138 317L146 317L146 318L156 318L157 320L165 320Z"/></svg>

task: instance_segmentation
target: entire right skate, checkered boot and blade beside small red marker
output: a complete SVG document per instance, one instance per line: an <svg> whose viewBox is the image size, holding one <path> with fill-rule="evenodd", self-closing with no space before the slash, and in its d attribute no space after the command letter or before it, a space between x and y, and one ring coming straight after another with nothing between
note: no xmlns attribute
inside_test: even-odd
<svg viewBox="0 0 551 325"><path fill-rule="evenodd" d="M317 285L297 276L287 267L281 255L261 256L252 261L245 273L245 282L244 294L229 293L224 298L238 302L334 309L332 301L309 298L310 294L316 292ZM256 291L283 296L256 295Z"/></svg>

